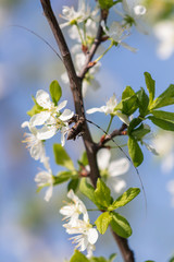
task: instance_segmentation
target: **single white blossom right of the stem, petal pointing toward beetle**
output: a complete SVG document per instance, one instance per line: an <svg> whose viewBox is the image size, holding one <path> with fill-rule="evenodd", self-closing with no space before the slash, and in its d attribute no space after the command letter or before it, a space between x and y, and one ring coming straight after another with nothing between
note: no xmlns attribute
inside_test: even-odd
<svg viewBox="0 0 174 262"><path fill-rule="evenodd" d="M105 115L111 115L111 116L117 116L122 122L125 122L127 126L129 124L128 117L125 114L122 114L121 111L115 111L114 108L117 105L117 100L115 97L115 94L107 102L105 106L101 107L94 107L91 109L88 109L86 112L87 114L94 114L94 112L104 112Z"/></svg>

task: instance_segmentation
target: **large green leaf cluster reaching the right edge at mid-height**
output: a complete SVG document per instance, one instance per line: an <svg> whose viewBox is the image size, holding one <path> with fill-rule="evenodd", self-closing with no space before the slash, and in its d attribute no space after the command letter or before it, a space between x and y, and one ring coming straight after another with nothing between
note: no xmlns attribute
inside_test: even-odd
<svg viewBox="0 0 174 262"><path fill-rule="evenodd" d="M144 160L144 154L139 146L142 139L150 132L150 128L144 124L145 120L150 120L157 127L174 131L174 112L160 110L162 107L174 105L174 85L171 84L160 96L156 96L156 82L150 73L145 72L145 82L148 94L141 87L135 92L130 86L126 86L122 94L122 100L114 108L126 116L132 116L138 111L138 117L134 118L127 129L128 152L134 165L137 167Z"/></svg>

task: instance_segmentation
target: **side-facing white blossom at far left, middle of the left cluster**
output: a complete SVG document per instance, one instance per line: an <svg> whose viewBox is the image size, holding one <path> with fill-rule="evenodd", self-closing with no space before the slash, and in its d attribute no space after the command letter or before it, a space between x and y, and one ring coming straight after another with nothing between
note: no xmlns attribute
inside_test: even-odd
<svg viewBox="0 0 174 262"><path fill-rule="evenodd" d="M40 162L45 160L46 152L44 142L37 138L37 129L35 127L32 127L28 121L25 121L21 126L22 128L28 128L30 133L25 133L25 140L24 143L27 144L27 147L29 148L30 156Z"/></svg>

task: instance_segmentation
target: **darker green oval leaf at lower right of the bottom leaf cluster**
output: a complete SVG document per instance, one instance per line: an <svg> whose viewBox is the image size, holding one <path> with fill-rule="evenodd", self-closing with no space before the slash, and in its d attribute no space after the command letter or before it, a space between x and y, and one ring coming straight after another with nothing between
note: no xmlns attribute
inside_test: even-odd
<svg viewBox="0 0 174 262"><path fill-rule="evenodd" d="M128 238L132 235L132 228L127 219L119 213L112 212L112 229L123 238Z"/></svg>

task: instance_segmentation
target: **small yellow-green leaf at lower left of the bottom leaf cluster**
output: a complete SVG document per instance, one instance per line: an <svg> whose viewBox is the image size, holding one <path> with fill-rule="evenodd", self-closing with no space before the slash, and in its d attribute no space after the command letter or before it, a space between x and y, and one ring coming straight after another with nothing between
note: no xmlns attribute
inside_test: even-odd
<svg viewBox="0 0 174 262"><path fill-rule="evenodd" d="M95 222L97 229L99 230L100 234L104 234L112 221L112 216L110 215L109 212L102 213L97 221Z"/></svg>

